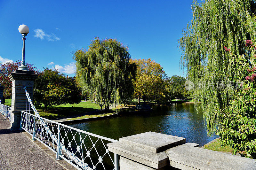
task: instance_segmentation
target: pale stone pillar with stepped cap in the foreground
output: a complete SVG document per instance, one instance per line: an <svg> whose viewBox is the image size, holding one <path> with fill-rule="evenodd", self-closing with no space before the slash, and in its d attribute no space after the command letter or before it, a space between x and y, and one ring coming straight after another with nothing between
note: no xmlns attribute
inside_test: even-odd
<svg viewBox="0 0 256 170"><path fill-rule="evenodd" d="M120 170L170 169L166 150L186 143L186 138L146 132L108 143L108 150L120 156Z"/></svg>

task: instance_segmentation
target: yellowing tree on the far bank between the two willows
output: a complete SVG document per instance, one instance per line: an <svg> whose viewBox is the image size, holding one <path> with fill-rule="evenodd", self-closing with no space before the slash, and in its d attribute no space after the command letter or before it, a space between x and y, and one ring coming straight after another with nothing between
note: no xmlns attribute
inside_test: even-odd
<svg viewBox="0 0 256 170"><path fill-rule="evenodd" d="M163 78L166 74L163 67L149 59L134 59L132 63L137 65L134 97L138 99L144 95L150 100L158 103L164 101L165 84Z"/></svg>

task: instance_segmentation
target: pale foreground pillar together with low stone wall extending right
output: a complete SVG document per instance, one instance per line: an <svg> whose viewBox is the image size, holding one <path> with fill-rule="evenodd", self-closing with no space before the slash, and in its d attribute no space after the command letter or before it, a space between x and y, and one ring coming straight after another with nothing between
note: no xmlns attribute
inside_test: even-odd
<svg viewBox="0 0 256 170"><path fill-rule="evenodd" d="M198 148L186 138L155 132L123 137L107 146L120 156L120 170L256 169L255 159Z"/></svg>

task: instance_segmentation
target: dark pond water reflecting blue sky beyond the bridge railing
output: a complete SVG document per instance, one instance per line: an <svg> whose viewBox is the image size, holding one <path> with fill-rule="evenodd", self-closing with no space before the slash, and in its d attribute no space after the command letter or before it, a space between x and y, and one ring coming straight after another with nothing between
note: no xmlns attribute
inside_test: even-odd
<svg viewBox="0 0 256 170"><path fill-rule="evenodd" d="M152 131L185 137L187 142L198 143L200 147L218 137L207 136L203 114L195 112L194 104L154 106L152 112L144 114L91 120L69 126L116 140Z"/></svg>

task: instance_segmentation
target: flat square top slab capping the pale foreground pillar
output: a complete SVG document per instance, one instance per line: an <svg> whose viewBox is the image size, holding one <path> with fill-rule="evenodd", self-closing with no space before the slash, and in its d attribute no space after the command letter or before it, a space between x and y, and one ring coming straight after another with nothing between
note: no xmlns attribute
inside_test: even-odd
<svg viewBox="0 0 256 170"><path fill-rule="evenodd" d="M119 139L119 142L130 146L136 146L137 148L153 153L159 153L174 146L186 143L186 138L156 132L145 132L122 137Z"/></svg>

